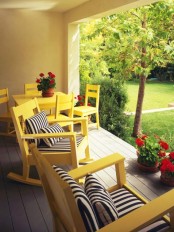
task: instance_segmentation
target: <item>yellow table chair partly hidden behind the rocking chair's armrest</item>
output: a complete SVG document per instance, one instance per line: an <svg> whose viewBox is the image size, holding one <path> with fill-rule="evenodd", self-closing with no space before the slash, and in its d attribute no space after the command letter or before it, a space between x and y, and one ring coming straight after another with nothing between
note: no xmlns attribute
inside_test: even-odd
<svg viewBox="0 0 174 232"><path fill-rule="evenodd" d="M56 119L58 122L60 121L61 126L69 126L70 131L73 131L73 122L72 121L64 121L62 120L73 118L73 110L74 110L74 94L62 94L56 96L56 107L55 113L52 115L48 115L48 120Z"/></svg>

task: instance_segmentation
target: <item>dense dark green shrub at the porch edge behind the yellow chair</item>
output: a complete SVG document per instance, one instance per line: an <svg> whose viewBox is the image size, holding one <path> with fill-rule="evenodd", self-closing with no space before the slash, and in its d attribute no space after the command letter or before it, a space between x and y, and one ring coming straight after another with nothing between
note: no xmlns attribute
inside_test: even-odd
<svg viewBox="0 0 174 232"><path fill-rule="evenodd" d="M123 81L116 79L93 79L90 84L100 85L100 126L112 134L125 139L128 136L129 118L125 115L125 106L128 100ZM84 94L82 84L81 94ZM92 117L92 121L95 120Z"/></svg>

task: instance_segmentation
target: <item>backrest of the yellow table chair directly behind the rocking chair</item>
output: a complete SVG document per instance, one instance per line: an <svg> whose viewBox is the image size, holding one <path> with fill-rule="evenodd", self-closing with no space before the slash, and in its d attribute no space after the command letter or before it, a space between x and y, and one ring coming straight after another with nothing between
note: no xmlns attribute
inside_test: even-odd
<svg viewBox="0 0 174 232"><path fill-rule="evenodd" d="M73 111L74 111L74 94L62 94L56 96L56 111L55 111L55 118L58 117L58 115L65 111L68 117L73 117Z"/></svg>

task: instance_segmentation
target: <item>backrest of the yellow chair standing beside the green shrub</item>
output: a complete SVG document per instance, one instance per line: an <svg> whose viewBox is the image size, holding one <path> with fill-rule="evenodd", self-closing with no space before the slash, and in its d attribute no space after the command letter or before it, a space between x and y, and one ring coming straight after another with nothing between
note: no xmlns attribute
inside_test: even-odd
<svg viewBox="0 0 174 232"><path fill-rule="evenodd" d="M95 99L95 103L94 103L95 105L93 105L93 106L98 109L99 96L100 96L100 85L87 84L86 85L86 92L85 92L85 106L88 105L89 98L93 98L93 99Z"/></svg>

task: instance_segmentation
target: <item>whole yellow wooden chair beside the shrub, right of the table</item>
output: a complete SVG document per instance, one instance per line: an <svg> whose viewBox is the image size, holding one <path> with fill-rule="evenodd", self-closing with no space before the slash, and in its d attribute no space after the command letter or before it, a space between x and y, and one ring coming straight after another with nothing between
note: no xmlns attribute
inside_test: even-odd
<svg viewBox="0 0 174 232"><path fill-rule="evenodd" d="M80 117L86 117L92 114L96 116L96 125L99 129L99 96L100 96L100 85L86 85L86 93L85 93L85 104L84 106L76 106L74 107L74 115ZM95 104L89 105L89 99L94 99Z"/></svg>

